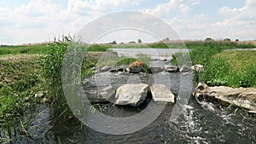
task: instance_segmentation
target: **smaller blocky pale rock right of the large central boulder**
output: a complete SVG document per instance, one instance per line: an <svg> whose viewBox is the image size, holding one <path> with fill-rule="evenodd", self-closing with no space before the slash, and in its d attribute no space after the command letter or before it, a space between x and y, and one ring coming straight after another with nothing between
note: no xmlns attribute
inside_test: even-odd
<svg viewBox="0 0 256 144"><path fill-rule="evenodd" d="M150 87L152 97L156 102L174 102L175 96L164 84L153 84Z"/></svg>

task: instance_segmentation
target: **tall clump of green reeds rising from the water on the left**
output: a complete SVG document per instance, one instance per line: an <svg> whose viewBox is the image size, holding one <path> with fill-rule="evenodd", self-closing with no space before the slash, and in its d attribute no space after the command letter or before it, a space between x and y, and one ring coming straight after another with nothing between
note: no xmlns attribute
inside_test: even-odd
<svg viewBox="0 0 256 144"><path fill-rule="evenodd" d="M49 44L49 53L42 59L44 79L48 85L48 95L53 100L57 112L67 117L73 116L73 112L67 105L67 97L64 95L62 84L77 86L81 82L79 78L91 74L90 68L96 65L95 60L87 63L87 59L84 59L86 49L86 44L74 43L72 37L62 37L61 40ZM70 88L70 91L73 90L72 94L77 91L75 86ZM73 100L75 98L78 97L73 97Z"/></svg>

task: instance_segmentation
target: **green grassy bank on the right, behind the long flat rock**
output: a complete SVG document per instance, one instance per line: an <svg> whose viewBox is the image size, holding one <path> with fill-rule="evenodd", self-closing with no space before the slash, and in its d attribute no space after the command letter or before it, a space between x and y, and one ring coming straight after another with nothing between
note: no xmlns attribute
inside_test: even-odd
<svg viewBox="0 0 256 144"><path fill-rule="evenodd" d="M256 87L256 51L221 50L192 50L194 64L205 66L201 81L211 86Z"/></svg>

